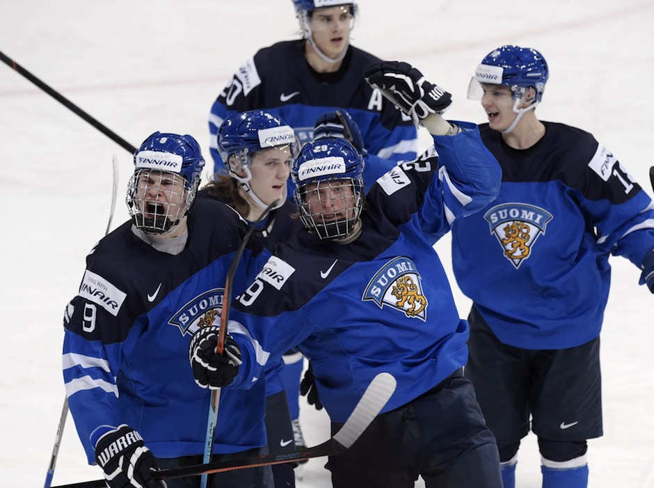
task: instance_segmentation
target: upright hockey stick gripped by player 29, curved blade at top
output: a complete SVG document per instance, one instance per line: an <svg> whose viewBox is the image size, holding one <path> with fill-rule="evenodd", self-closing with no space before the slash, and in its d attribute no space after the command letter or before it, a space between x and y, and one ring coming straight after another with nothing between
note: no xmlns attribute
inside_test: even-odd
<svg viewBox="0 0 654 488"><path fill-rule="evenodd" d="M268 215L268 212L277 205L279 200L274 200L273 203L266 207L266 210L259 216L257 221L253 223L245 237L243 242L237 249L234 259L232 259L232 264L230 265L227 271L227 277L225 278L225 291L223 292L223 310L221 310L221 326L218 329L218 340L216 341L216 354L223 354L225 349L225 333L227 333L227 324L230 319L230 307L232 304L232 284L234 283L234 275L236 270L239 267L239 261L241 260L241 255L245 250L245 246L250 240L250 236L255 231L255 228L259 223ZM207 417L207 436L205 438L205 453L202 458L202 464L208 464L212 460L212 454L214 450L214 431L216 430L216 418L218 418L218 403L221 399L221 389L212 390L212 399L209 404L209 416ZM207 475L202 475L200 480L200 488L207 488Z"/></svg>

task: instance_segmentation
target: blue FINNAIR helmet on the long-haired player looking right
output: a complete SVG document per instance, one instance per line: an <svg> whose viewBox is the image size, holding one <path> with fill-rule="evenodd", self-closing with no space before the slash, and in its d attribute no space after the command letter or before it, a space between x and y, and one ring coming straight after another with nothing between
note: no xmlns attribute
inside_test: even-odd
<svg viewBox="0 0 654 488"><path fill-rule="evenodd" d="M296 157L298 140L292 127L281 118L262 110L234 113L218 128L218 152L232 178L241 183L250 181L250 155L266 148L288 145L291 156ZM236 173L245 170L246 177Z"/></svg>

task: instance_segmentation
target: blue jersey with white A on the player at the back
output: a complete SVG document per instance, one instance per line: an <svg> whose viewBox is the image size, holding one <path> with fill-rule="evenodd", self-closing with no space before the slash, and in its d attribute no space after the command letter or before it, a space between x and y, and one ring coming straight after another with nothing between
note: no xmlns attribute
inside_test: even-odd
<svg viewBox="0 0 654 488"><path fill-rule="evenodd" d="M209 147L215 171L223 172L216 134L233 113L265 109L294 128L301 144L313 139L322 113L346 109L355 120L369 153L384 159L413 161L417 131L413 122L363 79L363 70L381 61L350 46L339 72L314 72L304 57L305 40L278 42L248 59L218 95L209 115Z"/></svg>

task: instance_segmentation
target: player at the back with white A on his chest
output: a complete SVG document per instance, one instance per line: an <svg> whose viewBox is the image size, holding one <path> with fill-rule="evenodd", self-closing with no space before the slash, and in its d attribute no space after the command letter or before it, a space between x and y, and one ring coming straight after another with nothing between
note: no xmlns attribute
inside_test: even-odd
<svg viewBox="0 0 654 488"><path fill-rule="evenodd" d="M293 0L302 38L277 42L248 59L218 95L209 116L215 171L223 171L216 134L233 113L266 109L295 129L304 144L325 111L350 112L367 150L393 161L411 161L417 132L408 118L363 80L378 58L349 44L357 13L353 2Z"/></svg>

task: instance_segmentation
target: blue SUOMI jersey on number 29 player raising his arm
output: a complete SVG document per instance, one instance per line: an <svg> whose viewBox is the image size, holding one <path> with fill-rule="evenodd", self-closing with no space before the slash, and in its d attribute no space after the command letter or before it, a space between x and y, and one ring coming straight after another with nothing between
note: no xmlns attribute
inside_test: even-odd
<svg viewBox="0 0 654 488"><path fill-rule="evenodd" d="M383 411L433 388L465 364L468 324L430 235L484 207L500 168L477 127L434 136L440 157L395 166L369 191L362 235L350 244L303 230L278 244L237 297L229 331L244 363L229 388L248 388L271 358L299 345L319 398L344 422L379 372L397 379Z"/></svg>

